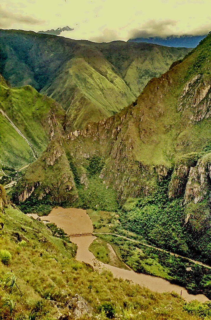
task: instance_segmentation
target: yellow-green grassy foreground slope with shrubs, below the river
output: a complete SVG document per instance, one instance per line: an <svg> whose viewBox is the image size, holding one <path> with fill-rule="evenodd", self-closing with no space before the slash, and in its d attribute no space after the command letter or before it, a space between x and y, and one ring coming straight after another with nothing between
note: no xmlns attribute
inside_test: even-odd
<svg viewBox="0 0 211 320"><path fill-rule="evenodd" d="M58 309L50 300L58 302L59 312L67 315L72 310L65 308L65 302L77 293L94 308L94 314L100 314L99 305L112 304L117 319L208 319L199 317L200 308L207 308L207 304L185 304L175 294L154 293L114 279L106 271L99 275L88 265L76 262L74 244L52 236L42 222L11 206L1 213L1 220L4 222L0 231L1 249L9 251L12 259L8 266L0 262L0 279L4 282L12 270L19 287L9 288L10 282L7 285L0 282L0 303L5 297L12 300L12 315L9 305L5 305L0 310L3 318L16 320L35 313L35 318L54 319L58 317ZM106 319L103 314L98 318ZM71 314L67 319L72 319Z"/></svg>

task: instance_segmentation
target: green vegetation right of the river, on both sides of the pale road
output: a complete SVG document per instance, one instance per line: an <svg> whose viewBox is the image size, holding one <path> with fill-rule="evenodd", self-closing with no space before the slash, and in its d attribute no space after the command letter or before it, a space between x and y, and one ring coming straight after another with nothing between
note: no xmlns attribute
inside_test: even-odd
<svg viewBox="0 0 211 320"><path fill-rule="evenodd" d="M168 199L169 179L167 177L158 182L158 188L152 196L128 199L118 214L87 210L94 231L117 233L209 263L210 230L207 226L205 236L205 226L202 224L202 221L206 221L204 215L209 216L208 204L189 204L184 212L181 199ZM184 225L183 219L188 213L191 214L191 225ZM210 269L117 236L102 234L98 237L114 245L121 259L134 271L160 276L184 286L190 293L204 293L211 297ZM105 249L98 247L93 243L90 250L105 262Z"/></svg>

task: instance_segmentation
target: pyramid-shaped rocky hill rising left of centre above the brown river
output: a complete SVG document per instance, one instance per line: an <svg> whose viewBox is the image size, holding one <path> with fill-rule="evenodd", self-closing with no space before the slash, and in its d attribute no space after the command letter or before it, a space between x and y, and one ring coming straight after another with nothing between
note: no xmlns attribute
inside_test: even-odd
<svg viewBox="0 0 211 320"><path fill-rule="evenodd" d="M73 173L58 136L51 140L42 156L30 164L17 188L18 192L13 194L16 203L25 201L31 195L38 199L47 197L57 203L72 203L78 197Z"/></svg>

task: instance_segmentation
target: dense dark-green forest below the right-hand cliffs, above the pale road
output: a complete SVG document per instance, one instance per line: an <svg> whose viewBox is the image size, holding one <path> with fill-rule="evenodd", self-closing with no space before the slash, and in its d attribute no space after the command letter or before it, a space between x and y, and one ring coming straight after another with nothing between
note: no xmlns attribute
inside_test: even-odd
<svg viewBox="0 0 211 320"><path fill-rule="evenodd" d="M142 236L152 245L209 263L209 228L199 227L204 220L206 224L209 205L205 201L204 204L188 204L186 208L181 206L182 199L168 199L168 183L169 178L163 179L152 196L126 202L120 214L122 228ZM191 208L197 210L197 215L190 212ZM198 236L196 223L195 229L193 223L184 224L188 213L191 215L190 221L195 219L198 228L201 228L197 231Z"/></svg>

